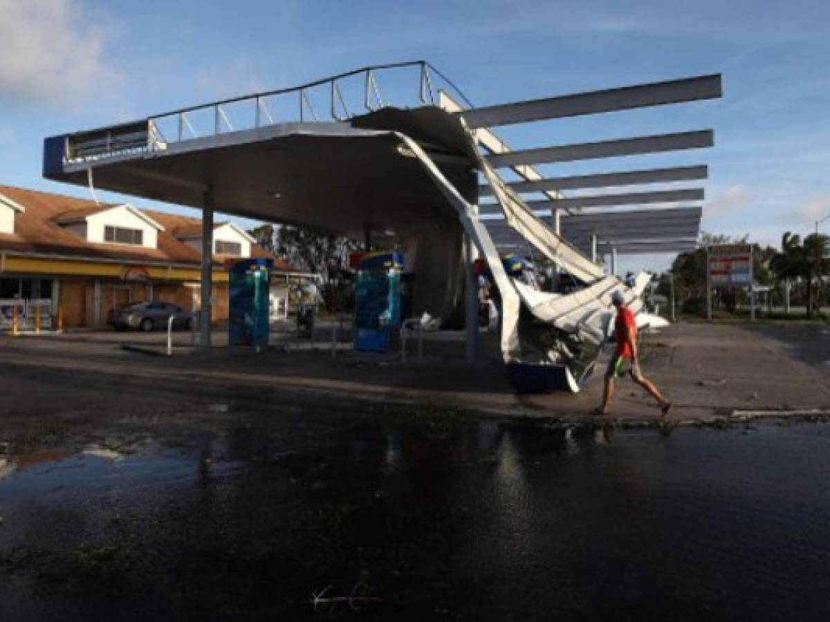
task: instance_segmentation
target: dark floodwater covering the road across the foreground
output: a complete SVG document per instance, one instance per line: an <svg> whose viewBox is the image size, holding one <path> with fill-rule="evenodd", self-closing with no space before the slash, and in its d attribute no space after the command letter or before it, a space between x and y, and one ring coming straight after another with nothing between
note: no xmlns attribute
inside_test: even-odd
<svg viewBox="0 0 830 622"><path fill-rule="evenodd" d="M830 615L830 425L217 404L0 442L4 621Z"/></svg>

